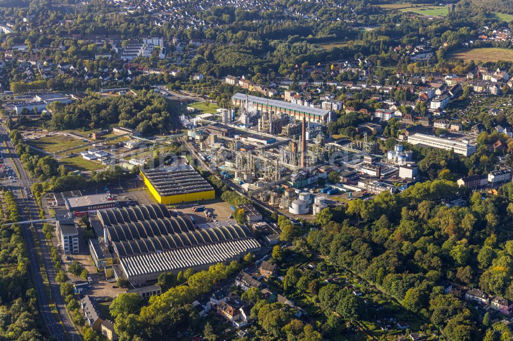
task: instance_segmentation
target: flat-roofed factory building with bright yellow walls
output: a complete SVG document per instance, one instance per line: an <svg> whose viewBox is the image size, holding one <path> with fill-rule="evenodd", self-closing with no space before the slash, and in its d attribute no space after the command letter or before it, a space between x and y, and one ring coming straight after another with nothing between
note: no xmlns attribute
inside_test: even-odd
<svg viewBox="0 0 513 341"><path fill-rule="evenodd" d="M141 176L153 198L161 204L215 199L212 186L188 164L146 169Z"/></svg>

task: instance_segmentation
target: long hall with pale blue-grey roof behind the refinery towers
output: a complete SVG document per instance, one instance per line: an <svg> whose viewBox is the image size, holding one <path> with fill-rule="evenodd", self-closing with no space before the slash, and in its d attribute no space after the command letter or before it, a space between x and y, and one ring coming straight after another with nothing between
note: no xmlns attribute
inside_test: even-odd
<svg viewBox="0 0 513 341"><path fill-rule="evenodd" d="M276 99L268 99L257 96L250 96L241 93L236 93L231 97L234 105L245 106L247 100L252 103L253 107L260 111L271 112L273 114L286 113L293 116L295 120L310 120L312 123L327 124L331 122L331 114L329 110L320 108L313 108L301 104L294 104Z"/></svg>

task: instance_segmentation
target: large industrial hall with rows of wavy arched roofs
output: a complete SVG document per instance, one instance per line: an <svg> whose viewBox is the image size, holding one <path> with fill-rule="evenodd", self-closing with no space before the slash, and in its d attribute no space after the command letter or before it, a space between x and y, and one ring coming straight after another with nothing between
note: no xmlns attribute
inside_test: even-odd
<svg viewBox="0 0 513 341"><path fill-rule="evenodd" d="M240 261L261 247L245 226L198 229L188 216L172 217L163 204L103 209L98 218L119 260L116 277L133 286L154 284L162 272Z"/></svg>

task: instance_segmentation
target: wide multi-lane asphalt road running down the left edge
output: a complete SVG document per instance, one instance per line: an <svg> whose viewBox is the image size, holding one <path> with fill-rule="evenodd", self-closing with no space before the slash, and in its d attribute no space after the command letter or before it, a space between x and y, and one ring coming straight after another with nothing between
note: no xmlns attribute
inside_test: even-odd
<svg viewBox="0 0 513 341"><path fill-rule="evenodd" d="M8 150L6 150L6 145L4 141L7 142ZM22 191L24 187L30 187L33 182L33 179L30 178L28 173L23 169L22 163L19 160L19 157L16 153L14 146L12 145L7 131L5 127L0 124L0 148L2 149L2 153L4 155L4 162L11 166L14 169L18 169L19 179L15 182L6 182L6 185L13 191L16 199L18 201L19 214L21 215L21 220L31 220L38 219L38 208L37 205L32 198L25 198ZM12 164L9 154L12 157ZM41 228L41 224L34 224L36 227L36 237L39 241L39 246L42 252L42 259L45 264L46 272L48 275L48 280L50 282L51 288L51 297L55 302L57 307L58 314L61 320L64 323L64 326L58 322L55 315L51 312L48 298L45 292L45 288L43 285L43 277L38 268L37 264L37 252L35 250L34 240L32 239L31 232L29 230L29 225L22 226L23 237L27 243L27 249L29 252L30 259L30 273L32 277L32 281L34 282L34 287L37 292L37 299L41 306L41 315L43 316L45 325L49 331L49 335L53 336L55 339L59 341L68 341L70 340L81 340L82 337L76 332L71 320L68 316L66 308L64 306L64 300L61 296L61 290L55 281L55 271L53 269L53 264L50 258L50 252L48 250L48 246L46 245L45 236ZM64 327L64 330L63 330ZM66 334L65 334L66 333Z"/></svg>

